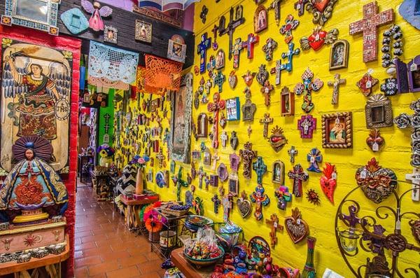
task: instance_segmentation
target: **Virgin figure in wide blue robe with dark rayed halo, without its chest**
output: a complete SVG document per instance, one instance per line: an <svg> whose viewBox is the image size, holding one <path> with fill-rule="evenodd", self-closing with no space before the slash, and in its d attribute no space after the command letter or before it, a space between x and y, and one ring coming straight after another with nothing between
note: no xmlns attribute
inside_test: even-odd
<svg viewBox="0 0 420 278"><path fill-rule="evenodd" d="M22 225L63 215L69 196L47 163L52 153L50 142L38 136L22 137L12 151L18 163L0 188L0 221Z"/></svg>

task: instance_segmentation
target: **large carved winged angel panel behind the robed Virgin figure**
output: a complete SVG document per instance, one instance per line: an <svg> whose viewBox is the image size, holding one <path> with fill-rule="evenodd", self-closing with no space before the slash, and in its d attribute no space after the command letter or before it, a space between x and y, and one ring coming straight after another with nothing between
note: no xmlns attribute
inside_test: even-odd
<svg viewBox="0 0 420 278"><path fill-rule="evenodd" d="M13 167L15 141L39 136L52 144L52 168L68 173L73 53L3 38L1 54L1 168Z"/></svg>

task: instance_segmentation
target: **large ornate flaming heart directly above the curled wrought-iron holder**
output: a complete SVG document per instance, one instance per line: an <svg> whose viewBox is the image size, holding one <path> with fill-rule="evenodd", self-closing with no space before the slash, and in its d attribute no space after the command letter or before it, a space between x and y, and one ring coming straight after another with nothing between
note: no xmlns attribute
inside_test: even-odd
<svg viewBox="0 0 420 278"><path fill-rule="evenodd" d="M382 168L375 158L367 162L365 167L357 169L356 181L365 196L377 204L397 188L397 176L393 170Z"/></svg>

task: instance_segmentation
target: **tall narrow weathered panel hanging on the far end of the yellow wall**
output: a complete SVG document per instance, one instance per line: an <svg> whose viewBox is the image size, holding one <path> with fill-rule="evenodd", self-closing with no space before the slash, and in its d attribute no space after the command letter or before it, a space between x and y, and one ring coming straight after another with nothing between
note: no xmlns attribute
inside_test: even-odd
<svg viewBox="0 0 420 278"><path fill-rule="evenodd" d="M172 136L169 141L170 158L189 163L191 113L193 110L193 74L182 76L179 91L172 93L171 102Z"/></svg>

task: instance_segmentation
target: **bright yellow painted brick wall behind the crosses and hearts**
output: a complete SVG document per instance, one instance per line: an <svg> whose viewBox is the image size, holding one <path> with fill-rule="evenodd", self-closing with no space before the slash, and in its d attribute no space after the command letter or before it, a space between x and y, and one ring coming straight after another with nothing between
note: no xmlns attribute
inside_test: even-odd
<svg viewBox="0 0 420 278"><path fill-rule="evenodd" d="M267 1L265 5L267 6L270 1ZM295 1L286 0L281 3L281 24L283 24L286 15L291 13L295 16L296 19L300 20L300 25L293 31L294 42L296 46L300 46L299 39L302 36L309 36L314 29L315 25L312 23L312 15L308 12L305 12L302 17L297 16L297 11L293 9L293 3ZM400 1L391 1L391 0L381 0L379 1L379 11L384 11L388 8L393 8L395 12L395 22L400 25L402 31L404 32L404 50L405 54L402 56L402 60L408 62L415 55L419 55L419 40L420 32L417 29L414 29L409 25L405 20L403 20L398 13L398 4ZM338 1L335 5L332 18L328 20L323 29L330 30L332 28L339 29L339 39L346 39L350 43L350 53L349 53L349 67L347 69L340 69L337 71L328 70L328 60L330 56L330 46L323 46L323 48L317 52L314 50L302 51L298 56L294 57L293 60L293 72L290 74L285 71L282 72L281 85L276 86L274 92L272 92L271 97L271 106L267 109L264 105L264 99L260 93L260 85L254 80L253 85L251 86L252 92L252 101L257 105L257 111L255 113L255 120L251 124L253 130L251 138L248 139L247 127L248 123L242 122L242 120L237 122L228 122L225 131L230 132L236 130L239 137L239 147L237 148L237 153L243 148L246 141L251 141L253 143L253 149L258 151L258 155L261 155L264 159L265 164L268 167L268 172L263 177L263 186L265 187L266 193L269 195L271 202L268 207L263 207L262 213L264 219L262 221L255 221L253 215L247 219L242 219L237 213L237 207L235 205L233 209L233 214L231 215L232 221L241 225L244 228L245 236L247 239L250 239L254 235L261 235L269 241L269 226L265 224L265 219L269 218L269 215L276 213L281 218L281 223L283 223L283 218L290 216L291 209L293 207L299 207L302 211L302 218L307 221L310 227L310 235L317 238L316 242L316 255L315 255L315 265L318 270L318 277L321 277L321 274L325 270L325 267L330 267L332 270L337 271L339 274L344 275L345 277L353 277L351 272L347 269L344 264L344 260L339 255L339 250L337 247L337 242L334 234L334 218L337 210L337 205L342 201L346 193L349 192L352 188L356 186L354 179L354 174L358 167L361 167L367 163L370 158L375 157L379 160L379 163L383 167L389 167L395 171L399 180L404 180L406 173L412 172L412 169L409 165L410 160L410 131L409 130L398 130L395 125L393 127L386 127L381 129L382 137L384 137L386 144L384 148L379 153L373 153L370 148L367 147L365 139L368 137L369 130L365 126L365 103L367 98L364 97L358 88L356 87L356 82L365 74L367 69L373 69L373 76L379 78L382 82L384 78L387 77L384 69L381 67L381 53L379 50L379 60L377 62L371 62L369 64L363 63L362 57L362 36L350 36L349 35L349 23L362 18L363 5L369 3L367 0L362 1ZM222 0L220 3L216 4L214 0L202 0L200 3L196 4L196 15L195 15L195 33L196 33L196 45L200 43L200 36L203 32L208 32L209 36L213 38L211 29L214 24L218 24L218 19L221 15L225 15L227 23L229 20L229 10L230 6L235 6L236 4L242 4L244 6L244 17L246 22L244 25L241 25L237 28L233 39L241 38L246 40L246 37L249 33L253 33L253 13L257 7L254 1L243 0L243 1L228 1ZM205 25L200 20L200 11L202 11L202 6L206 5L209 8L209 13L207 14L207 22ZM379 42L382 39L382 32L384 32L386 27L381 27L379 29ZM247 69L251 71L258 71L260 64L267 64L267 69L274 67L275 60L281 58L281 53L287 51L286 43L283 41L283 35L279 34L279 27L276 26L274 20L274 11L269 11L269 28L264 32L258 34L260 36L260 43L255 46L255 56L253 60L248 60L246 57L246 49L241 53L241 62L240 67L237 69L238 76L238 85L235 90L231 90L228 82L225 82L223 86L223 93L221 94L222 99L228 99L230 97L240 97L241 104L245 102L244 89L246 85L241 78L241 75L245 73ZM262 46L265 44L265 40L269 37L272 37L275 41L279 43L278 48L274 50L274 61L266 62L264 53L262 53ZM214 38L213 38L214 39ZM228 35L218 37L217 39L219 48L225 50L226 55L228 55ZM379 43L380 45L380 43ZM193 47L193 46L188 46ZM216 51L209 50L207 54L207 60L210 55L216 55ZM200 64L199 55L195 55L195 64ZM300 133L297 130L297 120L304 114L300 106L302 104L302 96L295 97L295 116L291 117L281 117L280 114L280 91L283 86L288 86L290 90L293 90L296 83L302 81L301 76L303 71L310 67L314 72L315 78L321 78L324 82L323 88L319 92L314 92L312 94L313 102L315 104L314 111L311 112L311 115L316 117L318 120L318 128L314 132L313 139L301 139ZM227 59L226 67L223 69L223 74L228 78L230 71L232 70L232 61ZM193 69L191 69L193 72ZM328 87L327 82L333 79L334 74L341 74L342 78L346 78L346 85L340 88L339 95L339 104L337 106L332 106L330 104L330 99L332 96L332 89ZM203 75L204 78L208 78L207 71ZM194 76L194 91L197 90L199 86L201 76ZM274 75L270 75L270 82L274 84ZM211 89L211 96L216 92L216 88ZM379 93L379 86L374 88L375 93ZM413 93L407 93L402 95L396 95L391 97L391 102L393 105L393 116L398 116L400 113L405 112L412 114L412 111L409 109L409 104L416 100L419 95ZM148 95L146 95L148 99ZM211 97L209 97L211 99ZM141 101L143 102L143 100ZM137 105L136 102L132 102L132 106ZM170 110L169 102L165 102L167 109ZM353 112L353 148L350 149L325 149L322 148L321 143L321 115L324 113L335 113L337 111L352 111ZM207 106L200 104L200 109L193 109L193 120L197 123L197 116L199 113L207 112ZM270 116L274 118L274 123L269 126L271 131L272 127L279 125L283 128L284 134L288 139L288 144L281 150L279 153L275 153L272 147L269 145L267 140L262 137L262 125L259 123L259 119L262 118L264 113L270 113ZM160 112L160 115L162 113ZM209 113L209 116L211 113ZM170 113L168 113L170 116ZM242 115L241 115L242 116ZM169 126L169 120L164 120L164 130L165 127ZM157 123L151 123L151 127L157 126ZM209 130L210 130L209 125ZM221 129L220 129L221 131ZM203 139L195 141L192 137L191 149L200 149L200 143ZM207 146L211 146L211 140L204 140ZM328 199L323 195L323 192L319 186L319 179L321 174L316 174L314 172L309 172L309 181L304 183L303 190L306 192L309 188L314 188L319 195L321 196L321 205L316 207L313 204L309 203L305 197L296 198L293 196L293 202L288 204L286 211L281 211L276 207L276 197L274 197L274 190L276 186L271 182L271 171L272 163L274 160L282 160L286 165L286 173L293 167L289 161L287 150L290 146L295 146L299 151L299 154L296 157L296 163L300 163L305 169L308 167L309 162L307 162L306 155L311 148L317 147L321 150L323 154L323 163L331 162L337 166L337 189L335 190L335 205L331 204ZM166 146L165 146L166 151ZM214 150L212 150L214 152ZM226 148L219 147L218 155L221 156L221 160L218 163L225 163L229 165L228 155L232 153L232 148L228 144ZM166 152L165 152L166 153ZM152 154L152 157L155 154ZM179 165L181 163L176 163L176 173L178 172ZM195 167L198 170L202 162L195 162ZM169 169L169 162L167 162L167 169ZM183 165L183 176L186 178L187 172L190 171L190 165ZM208 174L211 174L212 171L210 167L204 166L204 169ZM158 163L155 160L154 174L158 171ZM230 169L229 169L230 170ZM146 170L147 172L147 170ZM242 165L239 168L239 191L246 190L246 193L253 192L256 186L256 174L252 173L252 179L246 181L242 176ZM292 181L286 177L286 186L291 190ZM193 181L193 184L197 187L196 196L202 197L204 200L205 215L211 218L216 219L217 221L222 221L223 218L223 209L220 209L219 214L215 215L213 211L213 203L211 202L211 197L214 193L217 193L217 188L210 187L209 190L198 189L198 179L196 178ZM223 186L227 189L227 183L223 183ZM163 200L174 200L176 198L176 188L171 181L169 189L164 188L160 189L155 186L153 183L148 184L148 188L156 190L162 196ZM410 188L410 185L407 183L399 183L398 191L401 193L402 190L407 190ZM184 200L186 188L183 188L181 196ZM372 214L372 211L377 207L373 202L367 200L364 197L363 193L356 194L356 198L364 207L367 209L367 214ZM236 198L235 198L236 200ZM395 205L395 200L388 198L382 204L388 204L391 206ZM411 200L406 200L404 203L404 210L419 211L419 203L412 202ZM387 233L393 230L393 222L381 222ZM407 227L407 219L402 220L402 233L405 235L410 242L414 243L414 239L411 236L411 232ZM274 248L273 255L275 262L279 265L291 265L293 267L299 267L302 269L304 261L306 258L307 246L306 242L300 242L299 244L293 244L290 238L288 237L286 231L278 232L277 236L279 238L279 244ZM372 257L372 256L370 256ZM365 263L366 256L362 255L356 260L356 263L361 264ZM402 254L399 263L400 269L404 269L407 266L418 267L418 262L420 261L419 253L413 251L406 251ZM357 268L357 267L356 267ZM418 268L417 268L418 269ZM411 273L410 273L411 274ZM406 274L405 277L414 277Z"/></svg>

